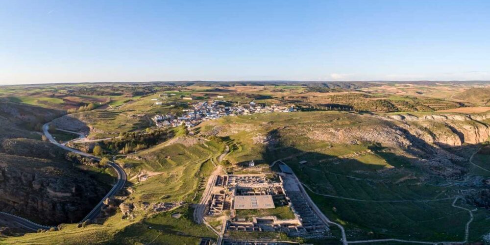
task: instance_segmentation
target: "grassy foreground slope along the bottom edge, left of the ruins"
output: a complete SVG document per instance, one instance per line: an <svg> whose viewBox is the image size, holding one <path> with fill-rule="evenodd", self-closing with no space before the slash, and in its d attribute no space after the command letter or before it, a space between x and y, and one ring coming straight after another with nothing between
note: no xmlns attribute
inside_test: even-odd
<svg viewBox="0 0 490 245"><path fill-rule="evenodd" d="M198 244L201 237L215 238L204 224L192 221L193 210L188 206L176 210L139 217L135 221L121 220L117 213L103 225L91 224L76 228L64 225L60 231L30 233L22 237L0 238L5 244ZM179 219L172 218L180 213ZM151 227L151 228L149 228Z"/></svg>

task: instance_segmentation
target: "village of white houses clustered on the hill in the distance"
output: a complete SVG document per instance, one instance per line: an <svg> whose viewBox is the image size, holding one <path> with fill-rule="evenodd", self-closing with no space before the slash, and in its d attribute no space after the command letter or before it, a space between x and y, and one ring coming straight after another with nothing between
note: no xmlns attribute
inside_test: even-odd
<svg viewBox="0 0 490 245"><path fill-rule="evenodd" d="M194 127L203 121L218 119L224 116L248 115L254 113L294 112L294 107L270 105L263 106L250 102L245 105L234 105L227 101L201 101L191 104L192 109L184 109L181 116L172 114L156 115L152 118L159 127L175 127L185 124Z"/></svg>

